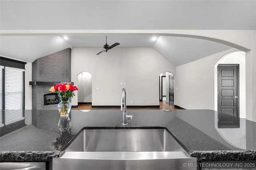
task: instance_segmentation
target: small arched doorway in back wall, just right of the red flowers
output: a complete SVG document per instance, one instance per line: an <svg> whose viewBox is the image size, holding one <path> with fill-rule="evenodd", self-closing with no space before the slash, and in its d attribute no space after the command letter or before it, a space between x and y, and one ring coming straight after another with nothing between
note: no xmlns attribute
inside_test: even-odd
<svg viewBox="0 0 256 170"><path fill-rule="evenodd" d="M92 104L92 75L89 72L80 72L77 76L77 86L78 105Z"/></svg>

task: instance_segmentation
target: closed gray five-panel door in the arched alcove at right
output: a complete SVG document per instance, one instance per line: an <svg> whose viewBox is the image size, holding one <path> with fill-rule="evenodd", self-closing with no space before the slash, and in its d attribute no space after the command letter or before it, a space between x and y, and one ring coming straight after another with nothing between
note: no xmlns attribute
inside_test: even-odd
<svg viewBox="0 0 256 170"><path fill-rule="evenodd" d="M239 117L238 73L239 64L218 65L218 126L237 124Z"/></svg>

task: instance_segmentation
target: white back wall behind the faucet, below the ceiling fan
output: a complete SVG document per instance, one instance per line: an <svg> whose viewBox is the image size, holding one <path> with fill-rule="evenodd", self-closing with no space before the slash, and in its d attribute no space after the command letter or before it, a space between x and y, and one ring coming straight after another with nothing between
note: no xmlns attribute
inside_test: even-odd
<svg viewBox="0 0 256 170"><path fill-rule="evenodd" d="M101 50L99 47L74 47L71 53L74 85L78 85L80 72L92 74L93 106L120 105L122 88L126 88L127 105L159 105L159 74L166 70L175 73L175 67L169 61L147 47L116 47L96 55ZM77 103L78 98L74 96L72 105Z"/></svg>

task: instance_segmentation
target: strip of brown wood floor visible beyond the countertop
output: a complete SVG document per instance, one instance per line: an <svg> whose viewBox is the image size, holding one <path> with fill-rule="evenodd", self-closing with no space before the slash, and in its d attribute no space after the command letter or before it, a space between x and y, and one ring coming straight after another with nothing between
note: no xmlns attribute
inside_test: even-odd
<svg viewBox="0 0 256 170"><path fill-rule="evenodd" d="M160 107L127 107L127 109L161 109L161 110L173 110L177 107L166 104L165 101L159 102ZM72 107L72 109L79 110L92 110L92 109L120 109L120 107L92 107L92 104L79 104L78 107Z"/></svg>

